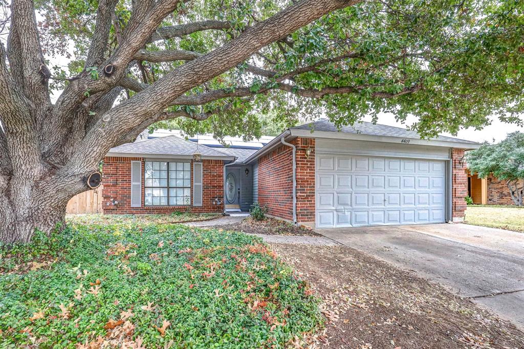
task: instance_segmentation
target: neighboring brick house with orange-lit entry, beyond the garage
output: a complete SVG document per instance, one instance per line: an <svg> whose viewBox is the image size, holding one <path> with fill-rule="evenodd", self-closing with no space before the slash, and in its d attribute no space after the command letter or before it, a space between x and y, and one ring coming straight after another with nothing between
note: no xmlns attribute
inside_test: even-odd
<svg viewBox="0 0 524 349"><path fill-rule="evenodd" d="M519 186L524 181L519 182ZM468 171L467 194L474 204L482 205L514 205L506 180L499 180L493 176L478 178Z"/></svg>

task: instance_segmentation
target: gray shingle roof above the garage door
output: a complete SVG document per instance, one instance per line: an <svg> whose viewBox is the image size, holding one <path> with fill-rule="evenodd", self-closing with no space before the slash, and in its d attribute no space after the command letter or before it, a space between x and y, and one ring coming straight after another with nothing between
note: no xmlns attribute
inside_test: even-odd
<svg viewBox="0 0 524 349"><path fill-rule="evenodd" d="M323 132L342 132L342 133L353 133L353 134L363 134L363 135L373 135L373 136L393 136L393 137L405 137L405 138L418 138L420 135L415 131L409 131L407 129L395 126L387 126L380 124L373 124L369 122L355 123L353 126L342 126L340 130L327 119L319 119L318 121L303 124L296 127L291 127L291 129L304 129L304 130L315 130ZM451 142L460 142L460 143L471 143L478 144L477 142L465 139L459 139L454 137L447 136L438 136L431 138L433 140L445 140Z"/></svg>

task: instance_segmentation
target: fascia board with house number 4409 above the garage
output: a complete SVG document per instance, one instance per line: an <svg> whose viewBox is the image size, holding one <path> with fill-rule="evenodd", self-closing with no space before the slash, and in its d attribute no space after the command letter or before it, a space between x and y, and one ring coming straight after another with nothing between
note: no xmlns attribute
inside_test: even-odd
<svg viewBox="0 0 524 349"><path fill-rule="evenodd" d="M354 134L354 133L343 133L343 132L326 132L326 131L314 131L314 130L312 132L311 130L304 130L304 129L290 129L290 135L292 137L363 140L363 141L376 141L380 143L425 145L425 146L445 147L445 148L461 148L461 149L466 149L466 150L478 149L481 146L480 143L467 143L467 142L460 142L460 141L419 139L419 138L397 137L397 136L376 136L376 135L365 135L365 134Z"/></svg>

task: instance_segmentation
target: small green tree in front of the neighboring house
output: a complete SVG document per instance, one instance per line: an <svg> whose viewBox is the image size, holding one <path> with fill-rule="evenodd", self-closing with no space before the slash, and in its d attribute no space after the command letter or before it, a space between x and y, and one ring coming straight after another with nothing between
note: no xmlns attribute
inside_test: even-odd
<svg viewBox="0 0 524 349"><path fill-rule="evenodd" d="M506 180L511 198L522 206L524 194L524 133L514 132L498 144L484 143L467 152L467 166L480 178L490 174Z"/></svg>

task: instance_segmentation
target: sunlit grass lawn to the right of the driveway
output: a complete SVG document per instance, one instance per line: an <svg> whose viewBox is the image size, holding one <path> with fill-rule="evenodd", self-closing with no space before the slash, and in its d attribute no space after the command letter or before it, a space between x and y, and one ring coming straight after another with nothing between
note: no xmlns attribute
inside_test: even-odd
<svg viewBox="0 0 524 349"><path fill-rule="evenodd" d="M468 205L465 222L524 233L524 208Z"/></svg>

